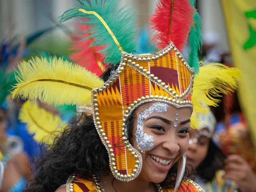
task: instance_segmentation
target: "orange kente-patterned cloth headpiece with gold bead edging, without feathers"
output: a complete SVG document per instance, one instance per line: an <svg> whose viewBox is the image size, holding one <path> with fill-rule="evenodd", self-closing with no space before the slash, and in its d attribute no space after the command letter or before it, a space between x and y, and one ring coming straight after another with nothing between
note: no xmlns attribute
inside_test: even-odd
<svg viewBox="0 0 256 192"><path fill-rule="evenodd" d="M110 170L118 180L136 178L141 168L140 154L128 143L124 131L125 118L133 110L129 109L131 105L136 108L144 102L160 101L177 108L192 108L194 72L172 43L165 50L161 51L165 54L148 56L124 53L117 74L92 90L95 126L108 150Z"/></svg>

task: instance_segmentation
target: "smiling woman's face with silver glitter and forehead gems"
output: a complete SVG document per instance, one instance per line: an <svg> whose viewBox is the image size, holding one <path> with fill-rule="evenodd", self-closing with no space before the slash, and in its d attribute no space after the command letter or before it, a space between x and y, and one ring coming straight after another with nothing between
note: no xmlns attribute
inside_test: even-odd
<svg viewBox="0 0 256 192"><path fill-rule="evenodd" d="M188 148L191 109L150 102L135 114L132 144L142 155L138 178L160 183Z"/></svg>

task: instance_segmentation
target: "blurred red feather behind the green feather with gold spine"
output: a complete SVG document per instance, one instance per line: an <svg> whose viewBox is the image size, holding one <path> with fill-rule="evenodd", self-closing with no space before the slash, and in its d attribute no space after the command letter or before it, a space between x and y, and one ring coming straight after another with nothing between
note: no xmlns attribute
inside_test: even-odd
<svg viewBox="0 0 256 192"><path fill-rule="evenodd" d="M76 28L81 32L80 34L71 34L71 50L73 53L70 55L70 59L76 64L79 64L96 75L100 76L105 70L107 65L103 64L104 58L102 54L98 53L102 46L90 47L90 44L94 42L93 38L84 40L90 35L86 30L88 26L78 24Z"/></svg>

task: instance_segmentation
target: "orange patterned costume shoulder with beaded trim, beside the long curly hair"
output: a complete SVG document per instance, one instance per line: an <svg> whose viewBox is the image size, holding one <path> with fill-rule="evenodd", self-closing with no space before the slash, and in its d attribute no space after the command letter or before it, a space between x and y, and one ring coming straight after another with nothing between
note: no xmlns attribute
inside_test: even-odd
<svg viewBox="0 0 256 192"><path fill-rule="evenodd" d="M66 183L67 192L97 192L96 184L91 181L84 179L82 176L76 174L68 178ZM59 191L62 192L62 191Z"/></svg>

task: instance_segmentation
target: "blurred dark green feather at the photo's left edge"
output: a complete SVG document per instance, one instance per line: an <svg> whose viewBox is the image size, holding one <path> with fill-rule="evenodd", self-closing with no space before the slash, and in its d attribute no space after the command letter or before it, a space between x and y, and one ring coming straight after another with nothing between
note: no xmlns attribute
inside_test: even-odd
<svg viewBox="0 0 256 192"><path fill-rule="evenodd" d="M7 73L4 69L0 69L0 77L0 105L2 105L6 97L10 94L12 86L14 86L17 81L14 72Z"/></svg>

